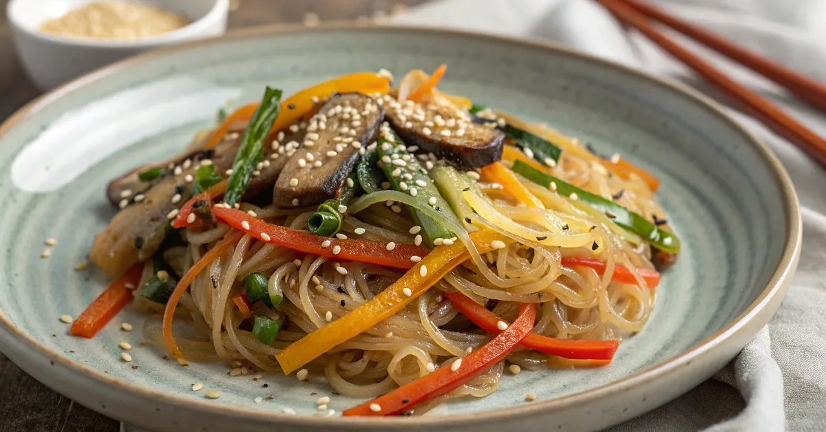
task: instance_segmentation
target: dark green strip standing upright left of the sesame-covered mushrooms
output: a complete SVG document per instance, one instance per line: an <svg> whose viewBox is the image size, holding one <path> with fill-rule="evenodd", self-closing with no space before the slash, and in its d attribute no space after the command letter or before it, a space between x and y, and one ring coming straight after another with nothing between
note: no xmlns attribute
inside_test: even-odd
<svg viewBox="0 0 826 432"><path fill-rule="evenodd" d="M253 178L255 164L263 157L263 140L273 127L278 112L281 111L281 93L278 88L267 88L261 104L241 136L241 144L232 163L232 175L224 193L224 202L230 206L235 205L244 196Z"/></svg>

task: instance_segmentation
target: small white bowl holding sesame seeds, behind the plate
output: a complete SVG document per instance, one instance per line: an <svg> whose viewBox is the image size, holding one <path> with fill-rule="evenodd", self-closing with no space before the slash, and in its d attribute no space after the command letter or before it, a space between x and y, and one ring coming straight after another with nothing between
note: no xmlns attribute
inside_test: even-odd
<svg viewBox="0 0 826 432"><path fill-rule="evenodd" d="M117 40L55 35L40 30L49 19L94 0L11 0L6 14L23 69L41 90L54 88L120 59L184 40L221 36L230 0L136 0L181 13L192 22L175 31ZM99 1L99 0L98 0ZM135 0L132 0L135 1Z"/></svg>

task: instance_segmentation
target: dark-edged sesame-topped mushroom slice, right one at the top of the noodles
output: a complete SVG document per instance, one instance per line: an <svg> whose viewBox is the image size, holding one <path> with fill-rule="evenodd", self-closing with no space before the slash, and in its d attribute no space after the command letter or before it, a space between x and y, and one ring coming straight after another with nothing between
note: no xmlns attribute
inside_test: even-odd
<svg viewBox="0 0 826 432"><path fill-rule="evenodd" d="M444 105L396 102L383 104L387 119L408 146L433 153L460 169L480 168L502 158L505 134L474 123L467 112Z"/></svg>

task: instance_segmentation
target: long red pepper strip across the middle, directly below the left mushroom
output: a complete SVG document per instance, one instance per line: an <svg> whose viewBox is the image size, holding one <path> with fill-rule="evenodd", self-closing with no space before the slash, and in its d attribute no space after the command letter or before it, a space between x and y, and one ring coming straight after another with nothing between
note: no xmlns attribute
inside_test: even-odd
<svg viewBox="0 0 826 432"><path fill-rule="evenodd" d="M427 249L412 244L396 244L395 248L387 250L387 244L379 241L322 237L306 231L292 230L286 226L273 225L234 208L213 207L212 214L233 228L242 230L259 240L332 259L411 268L415 265L411 257L421 258L428 253ZM325 242L329 242L327 246L323 245Z"/></svg>

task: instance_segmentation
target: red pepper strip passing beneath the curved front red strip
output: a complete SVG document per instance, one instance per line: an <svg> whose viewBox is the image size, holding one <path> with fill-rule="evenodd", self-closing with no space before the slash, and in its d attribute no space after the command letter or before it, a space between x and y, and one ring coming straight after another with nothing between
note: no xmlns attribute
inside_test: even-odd
<svg viewBox="0 0 826 432"><path fill-rule="evenodd" d="M456 306L463 316L467 316L473 324L478 325L482 330L499 334L502 330L496 324L501 320L493 312L488 311L470 297L461 292L444 292L444 297ZM505 321L507 322L507 321ZM610 360L614 358L614 353L619 347L619 340L573 340L557 339L548 336L529 333L522 339L520 344L529 349L536 349L545 354L552 354L563 358L588 359L588 360Z"/></svg>

